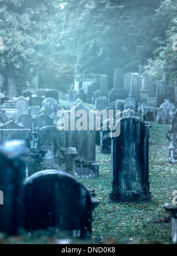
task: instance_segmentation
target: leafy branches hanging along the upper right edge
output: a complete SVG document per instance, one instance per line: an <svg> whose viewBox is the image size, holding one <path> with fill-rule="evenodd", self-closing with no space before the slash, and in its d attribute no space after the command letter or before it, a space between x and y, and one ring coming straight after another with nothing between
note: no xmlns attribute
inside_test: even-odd
<svg viewBox="0 0 177 256"><path fill-rule="evenodd" d="M163 28L164 35L155 38L158 47L154 51L154 58L149 60L147 69L150 75L159 79L162 71L169 72L169 81L176 78L176 52L172 50L172 38L177 35L176 27L177 2L175 0L165 0L161 2L160 8L156 11L155 20L161 20L158 23ZM162 76L161 76L162 77Z"/></svg>

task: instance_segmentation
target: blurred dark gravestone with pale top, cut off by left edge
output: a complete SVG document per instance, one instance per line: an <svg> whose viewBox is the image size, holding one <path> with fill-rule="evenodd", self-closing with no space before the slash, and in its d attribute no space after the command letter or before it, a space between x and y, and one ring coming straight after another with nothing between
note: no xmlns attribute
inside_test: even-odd
<svg viewBox="0 0 177 256"><path fill-rule="evenodd" d="M4 205L0 206L0 232L17 235L22 227L22 193L25 164L20 159L24 153L23 142L8 142L0 153L0 190Z"/></svg>

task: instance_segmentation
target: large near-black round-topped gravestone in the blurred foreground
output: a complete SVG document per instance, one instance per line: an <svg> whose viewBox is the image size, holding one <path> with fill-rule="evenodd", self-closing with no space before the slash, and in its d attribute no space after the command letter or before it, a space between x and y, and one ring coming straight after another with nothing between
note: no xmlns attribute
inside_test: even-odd
<svg viewBox="0 0 177 256"><path fill-rule="evenodd" d="M25 229L54 228L77 238L90 238L89 191L63 171L47 170L24 182Z"/></svg>

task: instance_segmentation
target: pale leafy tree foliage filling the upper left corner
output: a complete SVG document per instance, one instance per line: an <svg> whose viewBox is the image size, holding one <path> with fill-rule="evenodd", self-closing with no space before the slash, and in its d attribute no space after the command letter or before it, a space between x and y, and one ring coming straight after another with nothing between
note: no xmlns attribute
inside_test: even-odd
<svg viewBox="0 0 177 256"><path fill-rule="evenodd" d="M56 1L4 0L0 2L1 37L4 52L0 65L6 74L12 65L18 86L31 82L44 63L54 60L58 44L57 17L60 5Z"/></svg>

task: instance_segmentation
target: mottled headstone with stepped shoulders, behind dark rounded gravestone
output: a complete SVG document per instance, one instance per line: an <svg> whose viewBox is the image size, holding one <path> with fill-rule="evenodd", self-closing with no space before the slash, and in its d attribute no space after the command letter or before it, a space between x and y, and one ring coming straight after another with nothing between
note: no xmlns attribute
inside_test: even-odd
<svg viewBox="0 0 177 256"><path fill-rule="evenodd" d="M37 130L35 150L27 150L28 176L49 169L61 169L75 177L77 155L76 148L65 147L65 132L57 127L47 126Z"/></svg>

